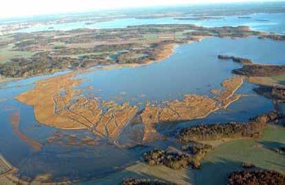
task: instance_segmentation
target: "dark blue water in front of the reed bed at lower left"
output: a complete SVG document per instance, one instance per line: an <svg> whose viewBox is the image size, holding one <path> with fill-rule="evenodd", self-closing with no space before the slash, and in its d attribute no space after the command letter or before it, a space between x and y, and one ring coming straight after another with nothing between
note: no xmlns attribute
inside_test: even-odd
<svg viewBox="0 0 285 185"><path fill-rule="evenodd" d="M33 116L33 108L14 99L0 102L0 107L2 108L0 110L0 153L12 165L19 168L21 177L35 177L39 174L51 173L54 180L61 181L63 177L76 179L103 176L116 171L117 166L122 167L135 162L142 154L139 151L135 153L118 149L103 141L99 146L49 144L47 138L56 131L68 135L73 134L78 138L93 135L85 130L63 131L39 124ZM20 112L19 130L29 138L43 144L41 151L34 151L12 130L10 115L15 111Z"/></svg>

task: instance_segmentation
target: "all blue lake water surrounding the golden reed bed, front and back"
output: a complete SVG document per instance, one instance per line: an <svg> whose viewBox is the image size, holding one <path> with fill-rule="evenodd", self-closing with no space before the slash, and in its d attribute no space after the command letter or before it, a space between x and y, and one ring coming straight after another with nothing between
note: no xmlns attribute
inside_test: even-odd
<svg viewBox="0 0 285 185"><path fill-rule="evenodd" d="M147 100L174 100L182 98L183 94L212 96L209 93L211 89L222 88L220 83L232 76L231 70L242 67L233 61L218 59L218 54L251 58L257 63L284 65L284 48L285 42L255 37L249 39L209 38L192 44L180 45L169 58L159 63L121 69L98 69L78 74L76 78L83 78L84 81L76 88L92 86L100 91L85 89L83 90L85 96L94 94L104 100L116 100L118 96L122 96L118 102L129 100L134 105ZM34 177L39 173L52 173L53 178L57 180L65 176L83 179L101 177L136 162L149 148L167 145L167 142L163 141L147 144L147 147L142 149L117 149L104 140L100 141L99 146L67 146L47 143L50 135L61 130L40 124L34 118L33 107L23 105L13 98L34 87L34 81L47 77L49 76L28 78L0 86L0 99L3 99L0 101L0 153L19 168L20 175ZM163 128L176 129L200 123L246 121L260 113L273 110L273 102L255 94L252 90L254 87L257 86L245 82L237 91L244 96L227 109L211 113L209 117L201 120L163 125ZM14 133L10 116L17 111L20 113L19 130L29 138L43 144L41 151L33 151L27 142ZM138 127L138 125L127 127L126 133L132 130L131 127ZM78 138L83 138L85 135L94 137L86 130L61 132L74 134Z"/></svg>

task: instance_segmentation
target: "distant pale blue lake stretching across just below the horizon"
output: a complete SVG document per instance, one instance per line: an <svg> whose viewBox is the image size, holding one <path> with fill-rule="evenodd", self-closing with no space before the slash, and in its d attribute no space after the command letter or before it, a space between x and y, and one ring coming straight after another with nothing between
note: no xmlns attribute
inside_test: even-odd
<svg viewBox="0 0 285 185"><path fill-rule="evenodd" d="M227 16L222 19L208 20L178 20L174 17L158 18L158 19L114 19L112 21L98 22L87 25L87 21L78 21L72 23L61 23L53 25L39 25L32 28L19 30L18 32L40 32L46 30L74 30L79 28L89 29L105 29L105 28L127 28L131 25L146 25L146 24L196 24L205 27L220 27L225 25L237 26L247 25L251 29L264 32L276 32L279 34L285 33L285 13L275 14L249 14L246 17L250 19L240 19L239 16ZM51 29L50 29L51 28Z"/></svg>

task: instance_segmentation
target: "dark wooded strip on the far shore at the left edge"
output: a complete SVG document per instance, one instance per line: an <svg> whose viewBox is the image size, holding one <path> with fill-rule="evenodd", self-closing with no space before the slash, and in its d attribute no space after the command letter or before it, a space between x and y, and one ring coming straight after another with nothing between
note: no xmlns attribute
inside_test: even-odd
<svg viewBox="0 0 285 185"><path fill-rule="evenodd" d="M110 65L112 63L114 62L107 60L106 56L100 55L71 58L52 56L49 52L41 52L30 58L12 58L10 63L0 65L0 74L8 78L25 78L39 74L50 74L67 68Z"/></svg>

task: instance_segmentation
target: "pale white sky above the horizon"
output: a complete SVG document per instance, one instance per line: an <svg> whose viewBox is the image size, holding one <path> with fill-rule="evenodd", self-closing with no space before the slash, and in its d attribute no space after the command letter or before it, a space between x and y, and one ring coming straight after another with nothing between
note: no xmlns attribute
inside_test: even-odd
<svg viewBox="0 0 285 185"><path fill-rule="evenodd" d="M244 1L246 0L1 0L0 18L143 6L233 3ZM251 1L261 2L262 0Z"/></svg>

